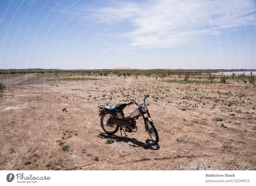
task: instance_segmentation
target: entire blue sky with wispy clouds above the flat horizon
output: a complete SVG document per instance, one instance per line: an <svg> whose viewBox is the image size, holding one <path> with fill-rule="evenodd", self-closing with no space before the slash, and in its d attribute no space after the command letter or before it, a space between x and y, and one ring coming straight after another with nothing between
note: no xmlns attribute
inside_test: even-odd
<svg viewBox="0 0 256 186"><path fill-rule="evenodd" d="M0 1L0 69L256 69L256 1Z"/></svg>

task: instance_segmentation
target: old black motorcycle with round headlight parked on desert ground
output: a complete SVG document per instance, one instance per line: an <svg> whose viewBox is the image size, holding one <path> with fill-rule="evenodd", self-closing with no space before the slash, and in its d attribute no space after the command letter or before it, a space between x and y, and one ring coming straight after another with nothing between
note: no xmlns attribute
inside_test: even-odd
<svg viewBox="0 0 256 186"><path fill-rule="evenodd" d="M131 101L128 104L117 104L116 106L108 106L108 104L101 105L101 103L99 103L99 115L101 116L100 125L102 129L107 134L113 135L120 128L122 137L122 130L124 131L124 133L136 132L138 129L138 127L136 126L136 120L138 120L139 117L142 117L144 120L145 129L148 132L149 136L151 137L152 141L158 143L159 136L154 125L154 122L150 118L148 107L145 104L145 99L147 97L149 97L149 95L144 97L144 102L142 104L137 104L136 101ZM129 116L124 116L124 108L126 106L129 107L133 104L137 105L138 108ZM147 114L148 116L145 117L145 114ZM125 130L123 128L125 128Z"/></svg>

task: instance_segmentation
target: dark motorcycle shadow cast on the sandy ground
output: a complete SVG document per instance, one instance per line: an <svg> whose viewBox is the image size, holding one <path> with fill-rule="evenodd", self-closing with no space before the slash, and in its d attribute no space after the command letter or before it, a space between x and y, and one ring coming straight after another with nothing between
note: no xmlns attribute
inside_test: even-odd
<svg viewBox="0 0 256 186"><path fill-rule="evenodd" d="M125 142L125 143L131 142L133 144L129 144L130 146L143 147L144 149L150 149L153 151L160 149L160 146L158 143L154 143L149 139L147 139L145 141L145 143L143 143L143 142L137 140L136 138L129 138L129 137L125 137L125 136L120 137L120 136L116 136L116 135L109 135L106 133L100 133L97 137L105 138L105 139L113 138L116 142Z"/></svg>

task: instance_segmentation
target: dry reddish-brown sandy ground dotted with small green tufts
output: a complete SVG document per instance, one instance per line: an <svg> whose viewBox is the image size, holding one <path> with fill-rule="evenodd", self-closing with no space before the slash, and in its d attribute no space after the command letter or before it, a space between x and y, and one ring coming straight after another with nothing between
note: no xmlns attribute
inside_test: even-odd
<svg viewBox="0 0 256 186"><path fill-rule="evenodd" d="M210 85L164 81L175 76L50 78L0 75L8 85L0 97L1 170L256 170L255 86L236 80ZM126 137L120 131L104 133L98 103L141 103L147 94L158 144L140 120L138 131ZM108 137L115 142L107 144Z"/></svg>

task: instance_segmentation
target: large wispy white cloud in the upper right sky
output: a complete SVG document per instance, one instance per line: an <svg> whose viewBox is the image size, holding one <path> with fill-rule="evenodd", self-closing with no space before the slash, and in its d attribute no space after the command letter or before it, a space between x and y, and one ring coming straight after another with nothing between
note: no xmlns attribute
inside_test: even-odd
<svg viewBox="0 0 256 186"><path fill-rule="evenodd" d="M103 20L101 24L134 25L132 31L124 31L131 45L152 48L199 46L208 37L255 25L256 17L254 0L162 0L112 5L91 8L86 13L97 12L90 20Z"/></svg>

